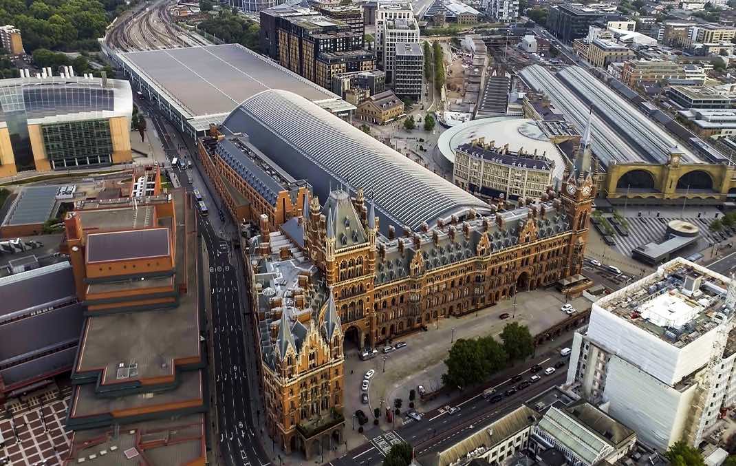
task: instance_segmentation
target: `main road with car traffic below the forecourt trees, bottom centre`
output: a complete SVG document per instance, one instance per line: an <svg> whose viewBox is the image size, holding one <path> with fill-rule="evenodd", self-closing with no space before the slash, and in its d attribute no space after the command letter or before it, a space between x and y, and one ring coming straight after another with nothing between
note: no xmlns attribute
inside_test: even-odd
<svg viewBox="0 0 736 466"><path fill-rule="evenodd" d="M569 347L570 343L565 342L561 346ZM540 364L546 368L557 361L567 361L567 359L559 356L558 351L555 351L553 356L539 356L520 366L518 375L528 380L531 375L531 366L534 364ZM353 448L352 451L329 464L331 466L378 466L383 462L383 457L386 456L391 445L402 441L408 442L414 448L414 454L417 457L445 450L494 420L514 411L526 400L539 395L551 386L561 384L565 381L566 373L567 366L556 370L552 375L543 375L540 372L541 381L513 395L505 396L498 403L490 403L489 400L483 398L481 389L476 389L472 393L464 392L459 398L448 403L449 406L458 406L459 412L450 415L444 408L440 408L423 413L420 421L408 420L403 426L392 431L382 432L372 429L366 432L367 436L371 437L366 443ZM512 383L511 378L507 378L495 380L489 386L493 386L497 393L503 393L517 384L518 382ZM372 413L367 414L370 416Z"/></svg>

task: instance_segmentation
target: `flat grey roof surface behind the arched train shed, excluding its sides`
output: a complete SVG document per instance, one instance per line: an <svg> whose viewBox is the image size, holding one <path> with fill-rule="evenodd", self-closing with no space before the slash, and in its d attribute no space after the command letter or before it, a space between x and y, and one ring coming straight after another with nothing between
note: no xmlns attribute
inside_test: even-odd
<svg viewBox="0 0 736 466"><path fill-rule="evenodd" d="M313 102L339 99L237 43L129 52L119 57L187 119L230 113L269 89L291 91Z"/></svg>

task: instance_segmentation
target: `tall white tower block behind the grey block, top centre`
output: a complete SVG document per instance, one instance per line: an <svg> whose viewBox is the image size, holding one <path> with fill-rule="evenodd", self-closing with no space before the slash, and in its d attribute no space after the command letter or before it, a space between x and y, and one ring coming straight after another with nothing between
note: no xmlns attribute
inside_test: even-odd
<svg viewBox="0 0 736 466"><path fill-rule="evenodd" d="M419 43L419 24L408 1L379 1L375 12L375 43L378 66L386 82L394 82L396 44Z"/></svg>

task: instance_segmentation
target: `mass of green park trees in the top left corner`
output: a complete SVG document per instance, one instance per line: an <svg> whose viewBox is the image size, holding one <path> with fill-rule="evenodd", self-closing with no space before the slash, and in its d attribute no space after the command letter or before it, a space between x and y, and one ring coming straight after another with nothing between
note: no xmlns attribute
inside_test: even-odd
<svg viewBox="0 0 736 466"><path fill-rule="evenodd" d="M0 24L21 29L26 52L96 50L124 0L0 0Z"/></svg>

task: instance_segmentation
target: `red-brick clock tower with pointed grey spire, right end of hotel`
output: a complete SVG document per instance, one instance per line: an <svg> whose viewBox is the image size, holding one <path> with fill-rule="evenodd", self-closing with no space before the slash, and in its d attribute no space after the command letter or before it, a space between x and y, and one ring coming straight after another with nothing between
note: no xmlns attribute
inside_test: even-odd
<svg viewBox="0 0 736 466"><path fill-rule="evenodd" d="M562 175L560 200L562 200L562 205L565 206L567 218L570 220L570 228L573 230L572 247L570 247L570 274L579 273L582 266L590 212L596 194L598 162L593 160L590 151L592 114L591 107L580 147L575 157L575 163L569 163L565 167L565 174Z"/></svg>

